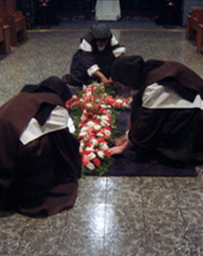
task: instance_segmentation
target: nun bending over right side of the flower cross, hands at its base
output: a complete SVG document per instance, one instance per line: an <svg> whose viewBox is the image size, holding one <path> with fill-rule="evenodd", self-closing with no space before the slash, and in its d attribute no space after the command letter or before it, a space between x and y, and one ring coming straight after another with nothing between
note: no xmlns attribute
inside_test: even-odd
<svg viewBox="0 0 203 256"><path fill-rule="evenodd" d="M112 155L127 149L156 161L203 160L203 80L176 61L122 57L111 67L111 80L132 90L130 121Z"/></svg>

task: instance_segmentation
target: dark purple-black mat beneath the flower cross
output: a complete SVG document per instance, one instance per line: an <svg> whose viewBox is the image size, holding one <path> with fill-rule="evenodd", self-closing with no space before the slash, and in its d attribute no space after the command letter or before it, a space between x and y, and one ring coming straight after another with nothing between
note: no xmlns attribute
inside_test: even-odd
<svg viewBox="0 0 203 256"><path fill-rule="evenodd" d="M129 118L129 111L119 111L117 129L124 134ZM120 155L112 156L114 163L109 167L103 176L198 176L195 166L191 163L169 161L163 157L154 159L147 153L137 153L134 150L127 150ZM85 173L86 176L98 176L97 172Z"/></svg>

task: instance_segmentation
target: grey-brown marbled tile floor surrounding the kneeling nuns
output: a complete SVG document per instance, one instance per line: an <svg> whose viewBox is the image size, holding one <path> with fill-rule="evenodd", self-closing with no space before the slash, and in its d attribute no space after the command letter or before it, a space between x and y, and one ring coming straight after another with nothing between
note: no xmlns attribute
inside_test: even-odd
<svg viewBox="0 0 203 256"><path fill-rule="evenodd" d="M203 77L203 55L185 30L111 28L127 54L180 61ZM58 29L30 31L24 44L1 58L0 104L24 84L69 72L85 31ZM69 211L45 219L2 212L0 255L202 256L203 167L197 170L196 178L89 176L79 180Z"/></svg>

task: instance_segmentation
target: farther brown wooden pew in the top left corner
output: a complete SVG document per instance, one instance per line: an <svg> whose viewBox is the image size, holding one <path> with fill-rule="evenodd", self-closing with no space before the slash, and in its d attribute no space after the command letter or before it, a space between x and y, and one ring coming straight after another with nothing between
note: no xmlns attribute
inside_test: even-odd
<svg viewBox="0 0 203 256"><path fill-rule="evenodd" d="M15 11L13 0L0 0L0 18L10 27L11 46L27 38L26 19L22 11Z"/></svg>

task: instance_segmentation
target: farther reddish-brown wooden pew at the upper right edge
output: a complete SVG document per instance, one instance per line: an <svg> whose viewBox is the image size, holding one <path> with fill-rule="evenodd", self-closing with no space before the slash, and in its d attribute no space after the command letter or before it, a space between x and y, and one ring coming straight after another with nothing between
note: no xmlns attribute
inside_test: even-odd
<svg viewBox="0 0 203 256"><path fill-rule="evenodd" d="M202 14L203 14L203 8L193 7L187 19L186 38L188 38L188 40L195 39L196 44L197 44L197 34L198 34L198 18Z"/></svg>

